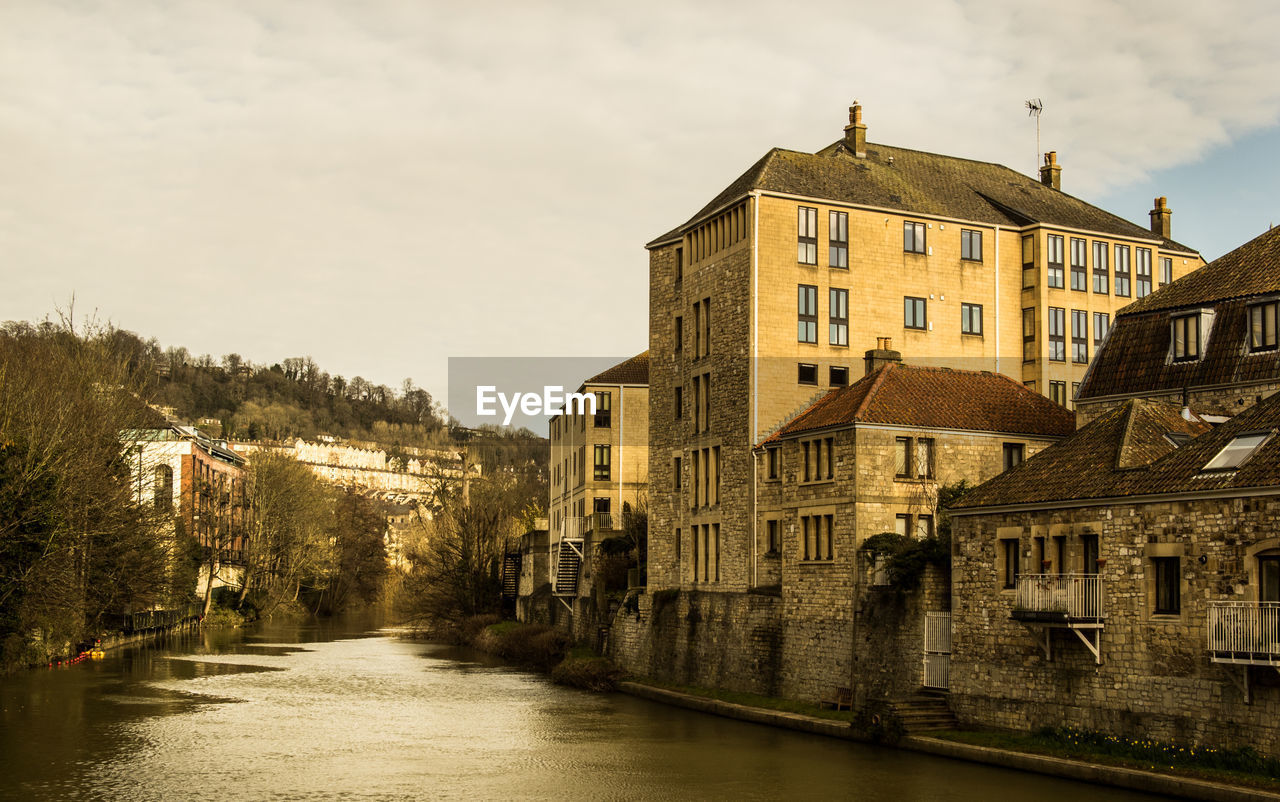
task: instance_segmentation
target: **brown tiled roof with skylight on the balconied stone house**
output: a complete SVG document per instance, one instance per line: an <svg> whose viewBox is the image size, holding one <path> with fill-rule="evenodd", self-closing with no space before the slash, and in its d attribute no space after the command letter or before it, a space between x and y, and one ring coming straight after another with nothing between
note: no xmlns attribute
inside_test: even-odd
<svg viewBox="0 0 1280 802"><path fill-rule="evenodd" d="M1023 464L965 494L955 509L1280 486L1280 436L1238 469L1203 468L1236 435L1280 429L1280 394L1210 429L1174 404L1130 399ZM1174 448L1166 432L1190 435Z"/></svg>

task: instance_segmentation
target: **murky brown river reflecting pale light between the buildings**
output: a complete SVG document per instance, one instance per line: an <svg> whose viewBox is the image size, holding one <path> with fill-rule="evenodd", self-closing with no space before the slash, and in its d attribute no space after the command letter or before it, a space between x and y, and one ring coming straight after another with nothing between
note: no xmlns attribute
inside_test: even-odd
<svg viewBox="0 0 1280 802"><path fill-rule="evenodd" d="M0 679L13 799L1034 799L1140 794L550 684L356 620Z"/></svg>

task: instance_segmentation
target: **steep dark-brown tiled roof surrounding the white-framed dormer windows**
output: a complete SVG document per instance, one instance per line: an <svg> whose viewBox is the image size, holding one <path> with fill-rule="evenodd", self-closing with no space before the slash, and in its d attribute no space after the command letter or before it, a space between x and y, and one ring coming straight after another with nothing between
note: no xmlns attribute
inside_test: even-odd
<svg viewBox="0 0 1280 802"><path fill-rule="evenodd" d="M1280 377L1280 352L1249 353L1247 343L1251 299L1275 293L1280 293L1280 229L1271 229L1121 310L1080 382L1078 398ZM1212 307L1215 315L1202 357L1194 362L1170 362L1170 312L1206 307Z"/></svg>

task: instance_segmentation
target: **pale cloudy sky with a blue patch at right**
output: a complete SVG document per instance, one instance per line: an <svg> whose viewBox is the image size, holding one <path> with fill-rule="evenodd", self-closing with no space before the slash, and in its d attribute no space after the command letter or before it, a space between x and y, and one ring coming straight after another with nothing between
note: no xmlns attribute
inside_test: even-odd
<svg viewBox="0 0 1280 802"><path fill-rule="evenodd" d="M1280 223L1258 3L0 3L0 320L312 356L444 397L448 357L646 345L644 242L769 147L1033 173L1212 258Z"/></svg>

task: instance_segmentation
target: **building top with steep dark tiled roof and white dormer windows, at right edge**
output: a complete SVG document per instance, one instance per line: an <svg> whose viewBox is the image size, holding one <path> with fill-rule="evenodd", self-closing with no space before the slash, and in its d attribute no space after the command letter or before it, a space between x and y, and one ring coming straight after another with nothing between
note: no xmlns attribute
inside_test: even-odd
<svg viewBox="0 0 1280 802"><path fill-rule="evenodd" d="M1116 315L1080 386L1088 422L1130 398L1233 416L1280 389L1280 229Z"/></svg>

